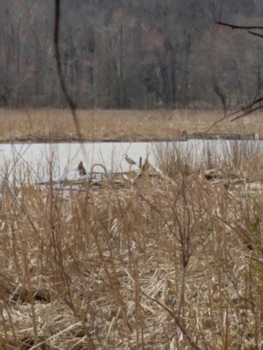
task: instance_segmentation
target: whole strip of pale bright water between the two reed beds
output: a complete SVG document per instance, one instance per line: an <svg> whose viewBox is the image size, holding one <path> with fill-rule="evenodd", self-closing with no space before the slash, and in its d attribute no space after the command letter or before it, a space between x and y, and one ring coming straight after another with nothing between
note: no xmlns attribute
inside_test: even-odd
<svg viewBox="0 0 263 350"><path fill-rule="evenodd" d="M219 159L226 150L233 152L233 146L242 144L247 148L260 145L262 142L229 141L229 140L202 140L192 139L188 142L95 142L95 143L59 143L59 144L1 144L0 145L0 167L1 176L8 172L9 179L14 172L19 178L28 174L38 181L47 180L52 173L53 179L77 178L77 165L83 161L87 172L94 164L103 164L108 172L125 172L129 170L129 164L125 161L123 154L128 154L136 163L142 162L148 157L149 162L158 167L156 160L157 148L175 146L190 154L190 159L200 158L206 150L212 150L212 157ZM132 169L136 169L133 166ZM95 172L102 171L102 167L95 167Z"/></svg>

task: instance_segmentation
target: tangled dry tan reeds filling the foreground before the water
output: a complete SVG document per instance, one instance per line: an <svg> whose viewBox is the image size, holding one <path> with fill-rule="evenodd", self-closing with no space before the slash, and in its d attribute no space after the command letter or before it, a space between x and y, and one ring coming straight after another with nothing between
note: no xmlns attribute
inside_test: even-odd
<svg viewBox="0 0 263 350"><path fill-rule="evenodd" d="M1 349L262 349L262 156L237 147L210 178L169 148L123 188L3 180Z"/></svg>

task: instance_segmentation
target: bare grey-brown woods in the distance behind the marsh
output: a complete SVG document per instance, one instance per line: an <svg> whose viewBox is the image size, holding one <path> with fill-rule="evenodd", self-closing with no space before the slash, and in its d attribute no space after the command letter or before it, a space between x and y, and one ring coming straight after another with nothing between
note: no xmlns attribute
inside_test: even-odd
<svg viewBox="0 0 263 350"><path fill-rule="evenodd" d="M62 74L77 108L224 111L262 95L261 0L63 0ZM0 106L66 107L54 0L2 0Z"/></svg>

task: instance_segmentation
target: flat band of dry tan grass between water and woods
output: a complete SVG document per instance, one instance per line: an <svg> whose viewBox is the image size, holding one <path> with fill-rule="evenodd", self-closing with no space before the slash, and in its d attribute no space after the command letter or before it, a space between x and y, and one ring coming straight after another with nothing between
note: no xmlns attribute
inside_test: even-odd
<svg viewBox="0 0 263 350"><path fill-rule="evenodd" d="M192 110L114 111L78 110L77 116L85 140L153 141L180 139L205 132L221 112ZM259 133L263 137L262 113L236 122L224 121L213 133ZM71 141L77 140L71 112L67 109L0 109L0 141Z"/></svg>

